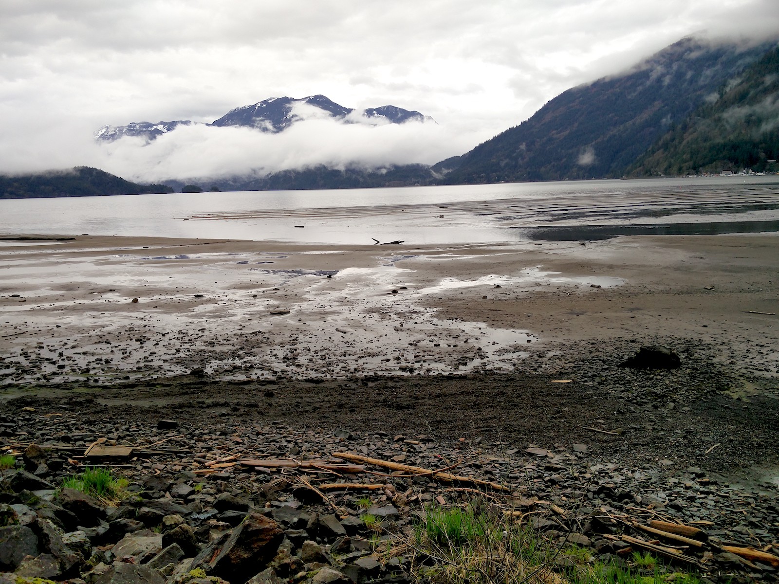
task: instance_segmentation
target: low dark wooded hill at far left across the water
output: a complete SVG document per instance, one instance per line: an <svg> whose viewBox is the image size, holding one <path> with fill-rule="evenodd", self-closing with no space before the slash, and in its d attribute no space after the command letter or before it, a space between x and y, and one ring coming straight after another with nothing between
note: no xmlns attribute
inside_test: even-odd
<svg viewBox="0 0 779 584"><path fill-rule="evenodd" d="M76 167L68 171L17 176L0 175L0 199L39 197L85 197L174 192L166 185L137 185L97 168Z"/></svg>

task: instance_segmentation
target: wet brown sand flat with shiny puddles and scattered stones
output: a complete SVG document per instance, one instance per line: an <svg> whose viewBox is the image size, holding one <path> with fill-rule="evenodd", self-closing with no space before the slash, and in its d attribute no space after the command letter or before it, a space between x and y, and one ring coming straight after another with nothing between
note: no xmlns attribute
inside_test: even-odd
<svg viewBox="0 0 779 584"><path fill-rule="evenodd" d="M754 313L779 306L777 248L754 234L2 241L0 383L513 371L529 355L563 363L584 339L657 336L721 347L712 358L770 380L777 316Z"/></svg>

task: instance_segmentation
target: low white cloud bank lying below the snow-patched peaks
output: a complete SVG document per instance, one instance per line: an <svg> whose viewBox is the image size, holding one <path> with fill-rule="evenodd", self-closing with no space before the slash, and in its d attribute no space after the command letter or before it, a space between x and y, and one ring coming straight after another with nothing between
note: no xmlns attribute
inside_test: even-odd
<svg viewBox="0 0 779 584"><path fill-rule="evenodd" d="M125 137L97 143L91 133L85 139L83 130L58 125L21 139L0 138L0 172L92 166L132 181L159 182L264 176L320 164L372 169L435 164L470 150L481 138L430 121L368 125L308 116L277 134L192 125L180 126L152 142Z"/></svg>

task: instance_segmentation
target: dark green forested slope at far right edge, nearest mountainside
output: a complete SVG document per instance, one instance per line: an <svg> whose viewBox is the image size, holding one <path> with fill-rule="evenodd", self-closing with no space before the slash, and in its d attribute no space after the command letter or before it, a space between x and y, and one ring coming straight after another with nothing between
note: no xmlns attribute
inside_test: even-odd
<svg viewBox="0 0 779 584"><path fill-rule="evenodd" d="M628 174L777 171L777 157L779 47L774 47L671 128Z"/></svg>

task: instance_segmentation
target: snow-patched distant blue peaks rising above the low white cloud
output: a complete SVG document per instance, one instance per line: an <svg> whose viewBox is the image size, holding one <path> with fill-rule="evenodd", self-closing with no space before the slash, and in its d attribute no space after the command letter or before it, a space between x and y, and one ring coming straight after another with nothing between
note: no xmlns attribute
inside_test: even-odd
<svg viewBox="0 0 779 584"><path fill-rule="evenodd" d="M308 111L301 111L306 107ZM256 104L236 107L228 111L206 126L237 126L241 128L255 128L261 132L283 132L297 121L306 118L306 114L314 118L326 117L343 121L346 124L366 123L372 125L403 124L407 121L434 121L430 116L420 114L418 111L404 110L402 107L385 105L382 107L370 107L357 112L351 107L344 107L335 103L323 95L312 95L296 99L294 97L271 97L268 100L259 101ZM124 136L143 136L148 141L158 138L160 135L171 132L179 125L195 125L199 122L189 120L158 121L153 124L149 121L133 121L128 125L111 126L104 125L95 134L95 138L112 142Z"/></svg>

